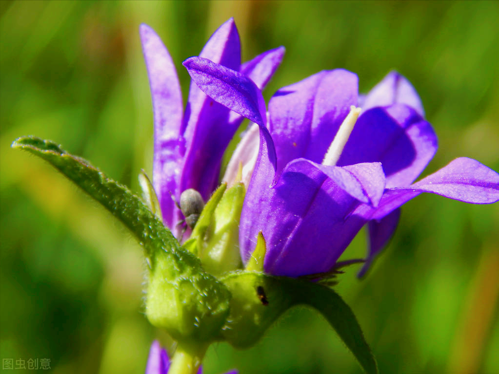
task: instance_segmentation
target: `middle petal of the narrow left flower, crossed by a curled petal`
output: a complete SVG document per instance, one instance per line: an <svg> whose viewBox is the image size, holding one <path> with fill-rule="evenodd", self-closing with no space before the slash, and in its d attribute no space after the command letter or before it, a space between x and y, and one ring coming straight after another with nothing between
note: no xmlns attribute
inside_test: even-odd
<svg viewBox="0 0 499 374"><path fill-rule="evenodd" d="M239 33L231 18L220 26L201 51L201 57L238 70ZM207 200L218 184L224 151L237 130L228 125L229 110L206 96L193 81L184 117L187 151L180 190L194 188Z"/></svg>

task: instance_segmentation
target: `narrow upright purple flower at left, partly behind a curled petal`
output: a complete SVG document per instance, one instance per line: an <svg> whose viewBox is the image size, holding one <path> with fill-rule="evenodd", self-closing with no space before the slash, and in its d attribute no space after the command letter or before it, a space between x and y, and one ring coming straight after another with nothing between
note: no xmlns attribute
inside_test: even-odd
<svg viewBox="0 0 499 374"><path fill-rule="evenodd" d="M214 102L194 82L183 112L182 93L168 50L145 24L140 26L140 36L154 110L153 186L163 221L173 229L183 217L172 196L179 201L183 191L194 188L205 201L208 199L218 185L222 155L244 118ZM241 64L239 34L231 18L215 31L200 56L248 75L263 89L283 54L284 48L279 47Z"/></svg>

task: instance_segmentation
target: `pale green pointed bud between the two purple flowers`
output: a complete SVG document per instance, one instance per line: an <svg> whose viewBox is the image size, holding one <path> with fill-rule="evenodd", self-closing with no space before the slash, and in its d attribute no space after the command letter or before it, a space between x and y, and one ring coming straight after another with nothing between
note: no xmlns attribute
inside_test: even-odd
<svg viewBox="0 0 499 374"><path fill-rule="evenodd" d="M222 184L206 204L191 238L189 248L201 259L203 267L216 276L241 267L239 221L245 199L245 186L231 188Z"/></svg>

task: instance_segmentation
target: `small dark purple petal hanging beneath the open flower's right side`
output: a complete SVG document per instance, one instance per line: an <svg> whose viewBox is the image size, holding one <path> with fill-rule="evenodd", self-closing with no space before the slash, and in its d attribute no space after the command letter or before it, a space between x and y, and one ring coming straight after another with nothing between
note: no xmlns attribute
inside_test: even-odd
<svg viewBox="0 0 499 374"><path fill-rule="evenodd" d="M362 269L360 269L357 274L359 278L365 275L374 258L390 241L393 233L397 229L399 219L400 209L395 209L381 220L372 220L367 223L367 229L369 232L369 252L367 254L366 262L364 262Z"/></svg>

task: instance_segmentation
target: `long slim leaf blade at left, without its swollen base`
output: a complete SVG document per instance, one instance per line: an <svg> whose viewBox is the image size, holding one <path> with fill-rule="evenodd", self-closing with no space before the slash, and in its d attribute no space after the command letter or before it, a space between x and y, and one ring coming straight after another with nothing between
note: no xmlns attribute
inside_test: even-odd
<svg viewBox="0 0 499 374"><path fill-rule="evenodd" d="M146 255L165 249L176 257L175 262L194 265L197 258L181 249L180 244L163 223L128 188L107 178L83 158L71 155L50 140L24 136L12 143L13 148L27 150L51 163L66 177L101 203L113 216L127 226L145 247Z"/></svg>

